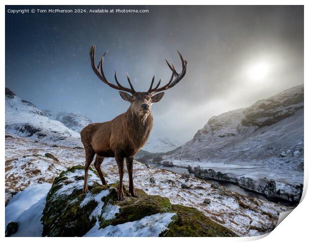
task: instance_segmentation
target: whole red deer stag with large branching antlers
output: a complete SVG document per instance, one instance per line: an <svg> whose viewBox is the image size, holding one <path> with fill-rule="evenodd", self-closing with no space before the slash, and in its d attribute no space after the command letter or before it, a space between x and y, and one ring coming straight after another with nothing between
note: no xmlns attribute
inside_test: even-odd
<svg viewBox="0 0 309 242"><path fill-rule="evenodd" d="M178 52L178 51L177 51ZM167 84L159 87L161 80L158 81L153 88L154 77L150 88L146 92L135 91L127 74L127 79L131 88L122 86L117 80L115 72L115 80L117 85L108 81L103 72L103 61L106 52L104 53L98 67L95 65L95 46L90 49L91 67L98 78L110 87L120 90L120 96L131 103L129 109L114 118L111 121L104 123L89 124L81 131L81 139L85 147L86 164L85 164L85 180L84 193L88 191L87 176L89 166L96 155L94 166L99 173L102 183L107 184L101 171L101 163L105 157L115 157L119 171L119 188L118 199L124 199L123 191L123 175L124 175L124 159L126 159L127 170L129 173L129 192L133 197L137 197L133 184L133 161L135 154L145 145L150 132L153 128L152 104L158 102L164 91L177 84L185 75L187 61L181 59L182 71L178 74L173 65L170 65L166 60L169 69L172 71L171 77ZM125 92L124 92L125 91ZM131 93L132 95L128 94Z"/></svg>

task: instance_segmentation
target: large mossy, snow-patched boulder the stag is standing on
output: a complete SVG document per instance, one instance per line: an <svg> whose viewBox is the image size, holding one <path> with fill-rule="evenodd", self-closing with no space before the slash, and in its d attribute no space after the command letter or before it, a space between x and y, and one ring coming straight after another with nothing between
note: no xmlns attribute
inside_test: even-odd
<svg viewBox="0 0 309 242"><path fill-rule="evenodd" d="M117 200L118 184L101 185L89 170L89 192L83 194L84 167L73 166L54 179L43 211L42 236L48 237L196 237L236 236L190 207L171 205L169 199L136 189Z"/></svg>

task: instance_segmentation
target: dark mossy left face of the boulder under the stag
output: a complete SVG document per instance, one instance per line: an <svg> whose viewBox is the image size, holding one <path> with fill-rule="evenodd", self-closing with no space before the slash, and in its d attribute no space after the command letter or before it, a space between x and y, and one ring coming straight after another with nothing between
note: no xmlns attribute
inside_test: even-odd
<svg viewBox="0 0 309 242"><path fill-rule="evenodd" d="M52 187L47 194L43 217L41 218L43 223L42 236L83 236L95 225L96 220L91 220L89 217L96 208L97 202L91 201L87 206L80 206L80 203L85 198L82 186L72 189L69 194L57 195L57 191L64 185L80 180L80 175L76 175L70 179L67 177L69 172L74 173L77 170L83 171L84 166L76 165L70 167L66 171L62 171L60 175L54 179ZM83 179L81 182L83 182ZM93 186L89 186L89 189L96 189L96 186L100 185L94 183Z"/></svg>

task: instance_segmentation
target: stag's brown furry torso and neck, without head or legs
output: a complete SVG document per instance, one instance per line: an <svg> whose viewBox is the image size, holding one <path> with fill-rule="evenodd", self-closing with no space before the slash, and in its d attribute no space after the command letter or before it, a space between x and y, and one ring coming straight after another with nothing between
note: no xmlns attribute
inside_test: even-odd
<svg viewBox="0 0 309 242"><path fill-rule="evenodd" d="M132 157L145 145L153 127L153 115L146 119L131 112L120 114L111 121L89 124L81 131L82 142L100 157L115 157L121 150L125 157Z"/></svg>

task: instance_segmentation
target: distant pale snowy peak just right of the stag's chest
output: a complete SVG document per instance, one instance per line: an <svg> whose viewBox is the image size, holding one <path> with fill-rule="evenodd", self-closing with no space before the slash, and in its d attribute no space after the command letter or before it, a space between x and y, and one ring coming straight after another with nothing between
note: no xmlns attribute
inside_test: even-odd
<svg viewBox="0 0 309 242"><path fill-rule="evenodd" d="M168 138L152 138L150 137L147 141L146 145L142 148L144 151L148 151L151 153L162 153L162 152L168 152L171 150L176 149L179 147L179 142L177 141L171 141Z"/></svg>

